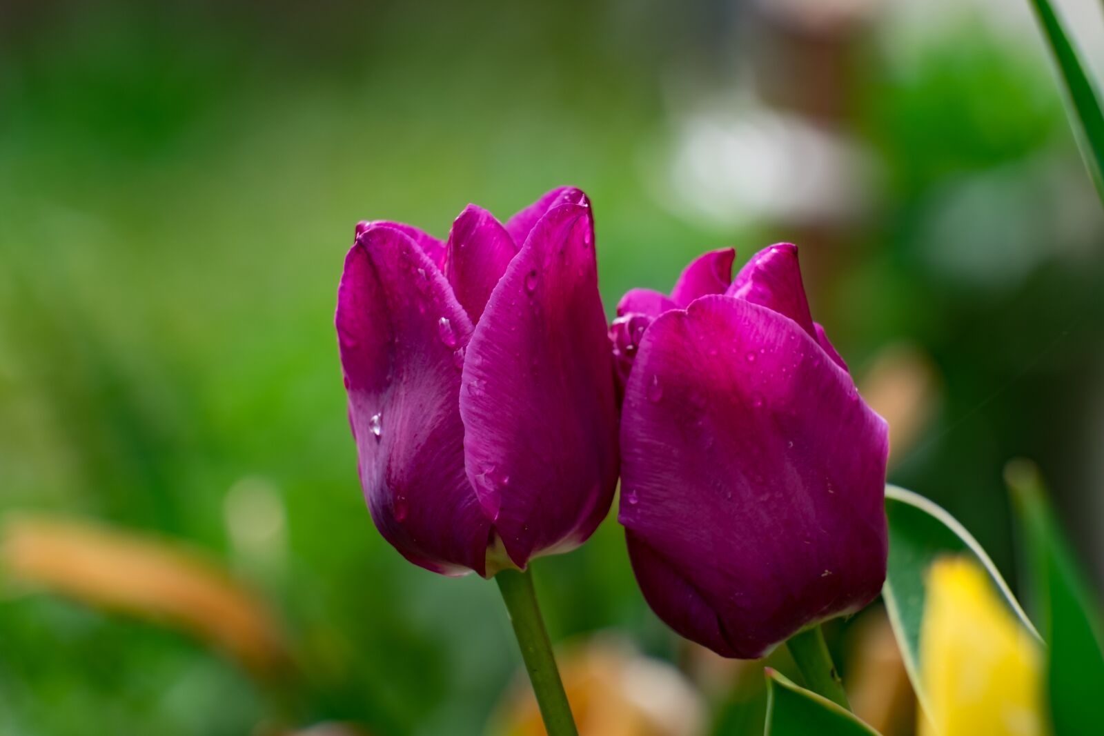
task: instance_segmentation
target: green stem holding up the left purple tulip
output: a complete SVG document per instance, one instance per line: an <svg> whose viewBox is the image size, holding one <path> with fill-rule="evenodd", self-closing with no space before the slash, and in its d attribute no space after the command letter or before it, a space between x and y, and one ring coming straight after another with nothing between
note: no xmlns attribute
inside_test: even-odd
<svg viewBox="0 0 1104 736"><path fill-rule="evenodd" d="M526 661L529 681L533 683L544 729L549 736L578 736L567 704L567 694L563 692L560 672L552 655L552 643L544 630L541 609L537 605L532 574L505 569L495 576L495 580L506 601L506 610L510 614L510 623L513 625L513 634L521 647L521 658Z"/></svg>

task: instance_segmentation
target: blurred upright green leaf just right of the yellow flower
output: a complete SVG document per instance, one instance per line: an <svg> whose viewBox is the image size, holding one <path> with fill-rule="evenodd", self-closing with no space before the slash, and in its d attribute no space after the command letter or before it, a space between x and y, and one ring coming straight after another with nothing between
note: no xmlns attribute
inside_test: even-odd
<svg viewBox="0 0 1104 736"><path fill-rule="evenodd" d="M1047 691L1054 733L1092 733L1104 723L1104 650L1097 601L1047 502L1034 463L1010 462L1005 479L1026 547L1028 600L1050 644Z"/></svg>

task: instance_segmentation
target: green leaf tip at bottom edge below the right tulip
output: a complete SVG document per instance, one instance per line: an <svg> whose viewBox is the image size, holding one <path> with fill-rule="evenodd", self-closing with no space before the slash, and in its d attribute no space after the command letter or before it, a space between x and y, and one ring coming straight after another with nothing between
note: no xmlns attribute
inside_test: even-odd
<svg viewBox="0 0 1104 736"><path fill-rule="evenodd" d="M850 711L766 669L764 736L878 736Z"/></svg>

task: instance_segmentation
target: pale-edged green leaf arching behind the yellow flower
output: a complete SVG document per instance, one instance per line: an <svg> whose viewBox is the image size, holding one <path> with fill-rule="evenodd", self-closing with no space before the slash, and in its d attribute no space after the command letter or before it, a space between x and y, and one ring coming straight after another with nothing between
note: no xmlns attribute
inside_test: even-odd
<svg viewBox="0 0 1104 736"><path fill-rule="evenodd" d="M920 679L920 630L927 570L936 559L947 555L972 556L992 578L994 587L1027 630L1039 634L989 555L954 516L924 497L895 486L885 487L885 515L890 555L882 598L916 700L926 711L927 693Z"/></svg>

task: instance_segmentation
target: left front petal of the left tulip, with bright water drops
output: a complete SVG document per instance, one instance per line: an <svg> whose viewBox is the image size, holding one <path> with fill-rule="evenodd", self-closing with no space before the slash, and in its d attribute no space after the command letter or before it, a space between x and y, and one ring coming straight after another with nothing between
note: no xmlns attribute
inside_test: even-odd
<svg viewBox="0 0 1104 736"><path fill-rule="evenodd" d="M427 569L482 574L490 523L464 470L457 408L470 320L427 253L373 225L346 258L337 328L376 527Z"/></svg>

